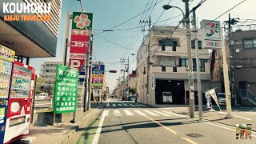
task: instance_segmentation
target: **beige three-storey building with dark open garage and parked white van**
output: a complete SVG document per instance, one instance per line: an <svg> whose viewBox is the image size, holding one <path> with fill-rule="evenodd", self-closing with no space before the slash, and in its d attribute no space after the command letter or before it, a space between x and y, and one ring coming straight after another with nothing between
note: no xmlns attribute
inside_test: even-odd
<svg viewBox="0 0 256 144"><path fill-rule="evenodd" d="M168 38L167 41L164 41ZM192 38L193 39L193 38ZM198 34L202 92L209 89L210 63L208 50L202 50L202 35ZM162 45L164 42L164 45ZM168 42L170 45L168 45ZM150 53L150 69L147 59ZM195 103L198 103L196 61L192 42ZM137 52L138 102L162 104L162 92L171 92L174 104L189 104L186 30L173 26L153 26ZM154 74L153 77L152 74ZM149 82L147 82L147 76ZM154 87L152 87L154 84ZM149 92L147 93L147 86ZM148 95L147 95L148 94Z"/></svg>

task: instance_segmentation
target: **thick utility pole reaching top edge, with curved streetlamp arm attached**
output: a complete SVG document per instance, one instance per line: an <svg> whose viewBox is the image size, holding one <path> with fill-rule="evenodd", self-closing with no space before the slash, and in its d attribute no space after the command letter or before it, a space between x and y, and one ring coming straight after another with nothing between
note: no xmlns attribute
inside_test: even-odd
<svg viewBox="0 0 256 144"><path fill-rule="evenodd" d="M191 54L191 38L190 38L190 10L189 10L189 0L182 0L185 2L186 7L186 40L187 40L187 58L188 58L188 68L189 68L189 94L190 94L190 118L194 118L194 78L192 69L192 54Z"/></svg>

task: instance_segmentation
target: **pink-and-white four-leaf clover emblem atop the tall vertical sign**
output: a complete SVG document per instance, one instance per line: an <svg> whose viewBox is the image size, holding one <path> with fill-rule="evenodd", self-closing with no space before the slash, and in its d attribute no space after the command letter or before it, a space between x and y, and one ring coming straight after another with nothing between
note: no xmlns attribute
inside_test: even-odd
<svg viewBox="0 0 256 144"><path fill-rule="evenodd" d="M84 29L86 28L86 26L90 26L90 19L88 19L87 14L80 14L80 16L75 16L74 22L76 23L76 26L80 29Z"/></svg>

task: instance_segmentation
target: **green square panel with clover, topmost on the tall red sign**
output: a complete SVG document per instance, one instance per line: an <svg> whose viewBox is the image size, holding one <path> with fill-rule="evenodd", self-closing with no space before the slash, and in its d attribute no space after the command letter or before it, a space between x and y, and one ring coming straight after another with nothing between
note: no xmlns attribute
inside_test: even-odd
<svg viewBox="0 0 256 144"><path fill-rule="evenodd" d="M92 13L73 12L72 29L91 30L93 26Z"/></svg>

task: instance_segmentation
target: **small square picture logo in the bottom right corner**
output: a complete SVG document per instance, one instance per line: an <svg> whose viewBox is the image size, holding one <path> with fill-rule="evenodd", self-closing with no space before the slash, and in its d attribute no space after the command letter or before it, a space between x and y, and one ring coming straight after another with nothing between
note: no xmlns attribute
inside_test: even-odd
<svg viewBox="0 0 256 144"><path fill-rule="evenodd" d="M251 124L236 124L236 139L251 139Z"/></svg>

